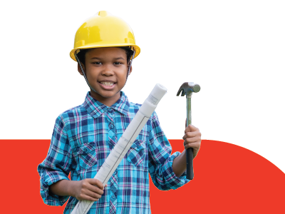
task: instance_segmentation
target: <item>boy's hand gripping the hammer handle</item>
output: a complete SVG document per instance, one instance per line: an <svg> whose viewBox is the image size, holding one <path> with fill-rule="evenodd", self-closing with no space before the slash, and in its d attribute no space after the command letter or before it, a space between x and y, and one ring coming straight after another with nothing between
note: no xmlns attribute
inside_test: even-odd
<svg viewBox="0 0 285 214"><path fill-rule="evenodd" d="M187 126L183 140L185 150L187 150L187 148L193 148L193 158L195 158L201 146L201 133L199 128L193 125Z"/></svg>

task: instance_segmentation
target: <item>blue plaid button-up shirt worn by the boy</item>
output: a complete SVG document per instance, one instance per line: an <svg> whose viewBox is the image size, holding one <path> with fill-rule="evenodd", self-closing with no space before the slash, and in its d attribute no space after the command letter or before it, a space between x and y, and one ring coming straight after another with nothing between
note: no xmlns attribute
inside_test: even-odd
<svg viewBox="0 0 285 214"><path fill-rule="evenodd" d="M81 106L61 113L56 119L46 159L38 165L41 197L48 205L63 205L69 196L53 195L48 186L58 180L94 178L105 158L123 135L140 104L130 103L123 91L113 106L105 106L87 93ZM160 190L176 189L189 180L177 178L172 148L154 112L133 146L118 165L102 197L88 213L150 213L149 176ZM69 198L64 213L71 213L78 200Z"/></svg>

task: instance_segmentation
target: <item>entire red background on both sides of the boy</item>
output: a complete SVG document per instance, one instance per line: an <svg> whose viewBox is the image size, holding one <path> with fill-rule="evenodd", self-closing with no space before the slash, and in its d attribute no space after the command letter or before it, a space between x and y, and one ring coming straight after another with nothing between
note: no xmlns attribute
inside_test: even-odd
<svg viewBox="0 0 285 214"><path fill-rule="evenodd" d="M45 205L37 165L50 140L1 140L1 213L63 213ZM182 151L181 140L170 140ZM194 180L161 191L150 181L152 213L285 213L285 173L257 153L220 141L202 141Z"/></svg>

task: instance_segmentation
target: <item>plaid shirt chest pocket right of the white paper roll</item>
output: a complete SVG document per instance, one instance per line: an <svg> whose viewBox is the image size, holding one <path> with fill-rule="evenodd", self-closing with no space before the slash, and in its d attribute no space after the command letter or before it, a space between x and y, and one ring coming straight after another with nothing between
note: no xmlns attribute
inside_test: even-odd
<svg viewBox="0 0 285 214"><path fill-rule="evenodd" d="M128 155L127 160L135 166L142 165L141 163L145 159L145 152L146 152L145 150L146 147L144 141L135 139L133 145L130 146L130 149L127 153Z"/></svg>

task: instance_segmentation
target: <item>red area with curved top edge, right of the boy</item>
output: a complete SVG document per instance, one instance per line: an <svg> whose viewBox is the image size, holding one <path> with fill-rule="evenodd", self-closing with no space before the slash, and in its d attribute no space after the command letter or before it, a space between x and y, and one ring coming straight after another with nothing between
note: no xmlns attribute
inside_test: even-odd
<svg viewBox="0 0 285 214"><path fill-rule="evenodd" d="M170 143L183 150L183 141ZM193 165L194 180L177 190L150 182L152 213L285 213L285 173L257 153L203 140Z"/></svg>

